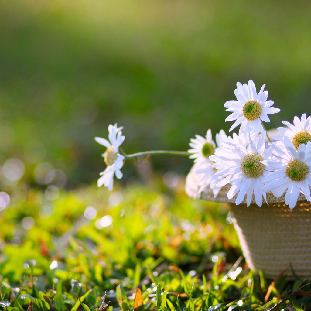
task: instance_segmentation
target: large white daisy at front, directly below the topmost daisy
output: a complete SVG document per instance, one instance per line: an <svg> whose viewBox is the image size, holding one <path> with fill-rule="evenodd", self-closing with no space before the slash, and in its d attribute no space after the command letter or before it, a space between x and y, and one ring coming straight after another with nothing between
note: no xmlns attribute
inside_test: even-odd
<svg viewBox="0 0 311 311"><path fill-rule="evenodd" d="M249 132L250 129L248 129ZM231 188L228 191L228 198L232 199L237 195L235 204L243 202L246 195L247 206L250 205L254 193L255 202L258 206L262 205L262 197L266 201L266 193L262 191L263 178L266 176L263 159L267 159L268 150L265 149L266 132L263 131L258 137L253 138L254 132L248 135L248 141L242 143L223 142L215 151L210 160L214 161L213 167L217 169L215 176L223 179L216 184L217 187L223 187L230 183Z"/></svg>

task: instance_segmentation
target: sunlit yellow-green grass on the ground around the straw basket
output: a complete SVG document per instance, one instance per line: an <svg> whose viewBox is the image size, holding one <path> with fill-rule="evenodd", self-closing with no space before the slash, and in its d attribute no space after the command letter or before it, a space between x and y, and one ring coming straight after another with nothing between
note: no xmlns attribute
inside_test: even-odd
<svg viewBox="0 0 311 311"><path fill-rule="evenodd" d="M104 310L108 302L106 310L132 310L137 288L136 310L268 310L301 283L249 271L228 207L188 198L181 179L111 194L62 190L55 200L34 189L10 196L0 219L2 310ZM90 206L95 219L84 216ZM286 304L309 310L311 301L288 296L277 310Z"/></svg>

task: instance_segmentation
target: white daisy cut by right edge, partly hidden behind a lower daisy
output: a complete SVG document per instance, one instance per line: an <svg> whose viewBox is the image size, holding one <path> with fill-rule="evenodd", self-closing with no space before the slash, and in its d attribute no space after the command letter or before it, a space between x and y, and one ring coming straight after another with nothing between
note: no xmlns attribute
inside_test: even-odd
<svg viewBox="0 0 311 311"><path fill-rule="evenodd" d="M307 118L306 114L301 116L301 119L294 117L294 124L287 121L282 121L287 128L280 127L277 130L282 135L273 135L274 140L282 140L284 136L290 138L291 142L297 150L301 144L306 144L311 141L311 117Z"/></svg>

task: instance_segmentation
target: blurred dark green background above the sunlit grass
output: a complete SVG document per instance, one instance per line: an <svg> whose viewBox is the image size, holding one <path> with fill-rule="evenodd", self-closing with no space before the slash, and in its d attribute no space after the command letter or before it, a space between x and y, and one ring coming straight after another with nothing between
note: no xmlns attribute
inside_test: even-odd
<svg viewBox="0 0 311 311"><path fill-rule="evenodd" d="M267 129L310 114L310 16L309 1L2 0L2 186L95 183L94 136L110 123L127 153L187 150L195 134L228 131L237 81L267 85L281 109ZM151 160L160 173L191 167Z"/></svg>

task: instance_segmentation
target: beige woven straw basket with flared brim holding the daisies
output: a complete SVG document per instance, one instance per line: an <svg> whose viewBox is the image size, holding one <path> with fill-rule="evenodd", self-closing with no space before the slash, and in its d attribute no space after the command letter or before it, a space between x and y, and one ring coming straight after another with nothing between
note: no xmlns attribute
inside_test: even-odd
<svg viewBox="0 0 311 311"><path fill-rule="evenodd" d="M268 205L236 206L235 197L227 198L228 187L216 198L210 188L199 193L200 179L193 168L187 176L186 192L193 198L230 203L234 227L251 269L262 270L272 278L288 269L286 274L293 279L291 264L298 276L311 279L311 206L303 196L292 210L282 197L276 198L272 193L267 193Z"/></svg>

